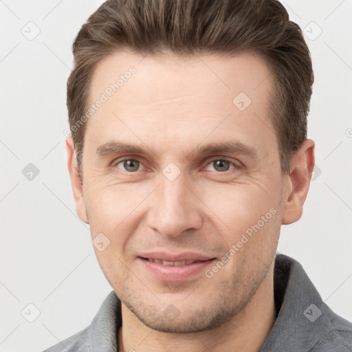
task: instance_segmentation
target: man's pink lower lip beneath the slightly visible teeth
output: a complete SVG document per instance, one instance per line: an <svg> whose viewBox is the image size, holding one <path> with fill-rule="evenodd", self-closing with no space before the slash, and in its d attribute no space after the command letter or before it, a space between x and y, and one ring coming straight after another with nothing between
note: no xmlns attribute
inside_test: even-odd
<svg viewBox="0 0 352 352"><path fill-rule="evenodd" d="M206 267L212 264L215 259L209 259L208 261L198 261L188 265L163 265L159 263L154 263L153 261L148 261L148 259L137 258L138 261L154 276L163 281L185 281L188 278L192 278L199 274L199 272L204 272Z"/></svg>

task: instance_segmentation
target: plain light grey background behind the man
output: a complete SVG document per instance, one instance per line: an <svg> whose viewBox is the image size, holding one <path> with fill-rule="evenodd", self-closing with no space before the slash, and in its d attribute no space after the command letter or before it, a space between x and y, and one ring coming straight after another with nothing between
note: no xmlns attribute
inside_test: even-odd
<svg viewBox="0 0 352 352"><path fill-rule="evenodd" d="M64 135L72 41L100 3L0 1L0 351L41 351L71 336L111 291L76 216ZM313 58L309 137L321 174L303 218L283 226L278 251L300 261L322 299L351 321L352 1L283 3ZM40 171L32 181L22 173L29 163Z"/></svg>

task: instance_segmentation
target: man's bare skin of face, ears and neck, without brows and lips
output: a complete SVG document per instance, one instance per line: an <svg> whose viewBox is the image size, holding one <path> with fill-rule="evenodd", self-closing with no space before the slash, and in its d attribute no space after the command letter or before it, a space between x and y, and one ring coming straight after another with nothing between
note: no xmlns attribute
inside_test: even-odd
<svg viewBox="0 0 352 352"><path fill-rule="evenodd" d="M78 216L93 239L103 233L110 241L96 255L122 301L119 351L259 351L276 316L273 270L281 224L302 215L314 142L303 143L291 172L282 175L269 106L272 76L256 54L142 59L115 53L96 67L90 103L131 66L135 74L87 122L83 184L67 138ZM232 103L241 91L252 100L244 111ZM113 140L146 153L99 156L98 147ZM198 153L224 141L241 142L256 157ZM137 170L120 162L123 157L139 160ZM228 162L219 168L219 159ZM180 172L173 181L162 173L170 162ZM271 219L211 278L201 272L162 281L137 259L164 250L219 261L273 208ZM170 304L179 312L171 319L163 314Z"/></svg>

